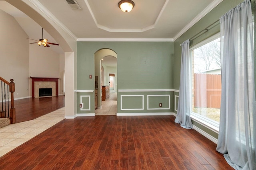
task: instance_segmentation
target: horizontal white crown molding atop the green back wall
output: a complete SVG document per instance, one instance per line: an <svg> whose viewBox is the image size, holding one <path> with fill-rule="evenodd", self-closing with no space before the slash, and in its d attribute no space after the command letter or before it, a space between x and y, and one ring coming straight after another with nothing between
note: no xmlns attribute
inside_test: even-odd
<svg viewBox="0 0 256 170"><path fill-rule="evenodd" d="M77 41L173 42L172 38L78 38Z"/></svg>

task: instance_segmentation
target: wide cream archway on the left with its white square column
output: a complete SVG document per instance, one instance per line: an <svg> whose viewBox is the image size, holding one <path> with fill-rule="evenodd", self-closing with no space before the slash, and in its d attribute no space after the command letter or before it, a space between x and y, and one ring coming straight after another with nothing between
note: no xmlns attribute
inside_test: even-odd
<svg viewBox="0 0 256 170"><path fill-rule="evenodd" d="M32 3L13 0L6 0L6 2L24 12L24 14L38 23L40 27L43 27L44 30L46 30L56 42L60 44L60 47L64 51L64 54L61 56L64 57L65 78L64 75L60 77L63 77L63 81L65 79L66 83L63 83L62 89L66 96L65 117L74 118L74 114L76 113L76 104L74 104L76 98L76 94L74 93L74 89L76 89L74 86L74 82L76 82L76 76L74 74L76 69L76 39L73 39L70 35L65 33L53 20L49 20L49 17L46 14L38 12L38 8Z"/></svg>

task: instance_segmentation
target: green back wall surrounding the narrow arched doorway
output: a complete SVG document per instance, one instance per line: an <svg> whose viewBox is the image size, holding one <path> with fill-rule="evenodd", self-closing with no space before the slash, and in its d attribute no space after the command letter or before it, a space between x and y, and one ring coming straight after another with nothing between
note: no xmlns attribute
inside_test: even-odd
<svg viewBox="0 0 256 170"><path fill-rule="evenodd" d="M117 54L118 90L173 88L174 42L77 42L78 90L94 89L94 53L105 48ZM90 74L92 74L92 79L89 78ZM88 94L91 95L91 106L93 106L93 93L78 93L77 99L80 95ZM118 93L118 104L120 104L120 95ZM171 108L173 108L172 100L173 97ZM168 110L168 112L172 111ZM94 109L90 112L78 111L78 113L94 112ZM118 106L119 112L120 106Z"/></svg>

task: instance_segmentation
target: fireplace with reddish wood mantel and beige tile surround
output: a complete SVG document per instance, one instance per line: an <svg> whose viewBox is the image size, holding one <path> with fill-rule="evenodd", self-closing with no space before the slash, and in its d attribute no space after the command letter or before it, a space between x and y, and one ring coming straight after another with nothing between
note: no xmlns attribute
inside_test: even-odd
<svg viewBox="0 0 256 170"><path fill-rule="evenodd" d="M45 77L32 78L32 98L39 98L39 88L52 88L52 96L58 96L58 79ZM47 97L52 97L47 96Z"/></svg>

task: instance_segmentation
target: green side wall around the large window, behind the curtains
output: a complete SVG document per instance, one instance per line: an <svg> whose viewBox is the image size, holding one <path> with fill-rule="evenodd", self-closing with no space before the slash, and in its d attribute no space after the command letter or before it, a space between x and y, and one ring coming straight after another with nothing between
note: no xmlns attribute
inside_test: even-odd
<svg viewBox="0 0 256 170"><path fill-rule="evenodd" d="M204 16L201 20L199 20L196 24L194 24L188 31L186 31L182 36L180 36L178 39L174 41L174 89L179 90L180 86L180 61L181 61L181 47L180 44L186 41L187 39L190 39L194 35L198 34L201 30L205 29L215 21L219 20L219 18L224 15L226 12L228 12L230 9L234 8L238 4L243 2L243 0L223 0L218 6L216 6L212 11L210 11L206 16ZM201 41L211 37L212 35L220 32L220 24L219 22L214 24L211 29L201 35L200 37L194 39L193 41L190 41L190 47L193 45L196 45L197 43L200 43ZM175 93L175 95L178 95ZM177 98L178 99L178 98ZM176 99L176 100L177 100ZM176 105L176 107L178 104ZM177 113L176 111L174 111ZM195 121L192 122L196 127L202 129L206 133L212 135L213 137L218 138L218 134L207 129L206 127L200 125L199 123L196 123Z"/></svg>

